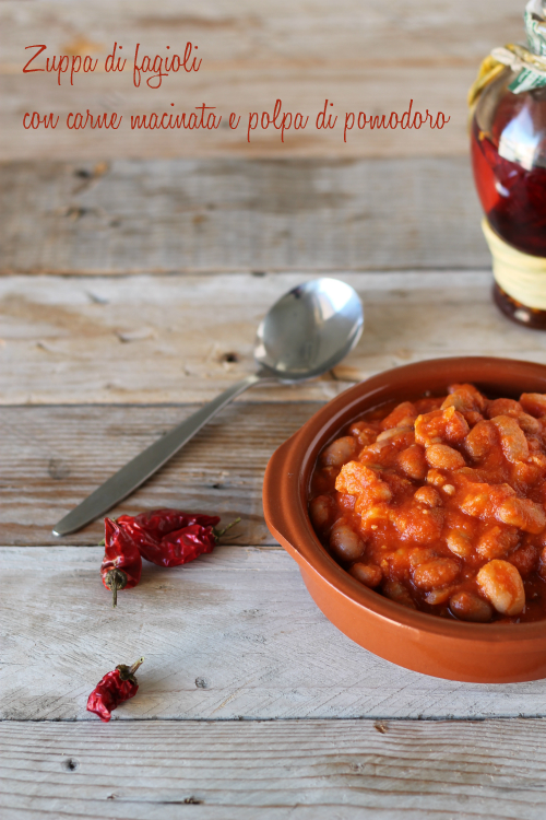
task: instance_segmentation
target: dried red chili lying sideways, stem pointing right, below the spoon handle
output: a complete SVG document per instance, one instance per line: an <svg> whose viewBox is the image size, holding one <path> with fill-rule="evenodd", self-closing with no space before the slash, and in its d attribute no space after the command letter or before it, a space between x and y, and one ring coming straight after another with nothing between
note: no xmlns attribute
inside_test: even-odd
<svg viewBox="0 0 546 820"><path fill-rule="evenodd" d="M233 522L229 527L237 524ZM118 525L138 546L146 561L158 566L180 566L212 552L226 527L215 529L217 515L183 513L179 509L153 509L140 515L121 515Z"/></svg>

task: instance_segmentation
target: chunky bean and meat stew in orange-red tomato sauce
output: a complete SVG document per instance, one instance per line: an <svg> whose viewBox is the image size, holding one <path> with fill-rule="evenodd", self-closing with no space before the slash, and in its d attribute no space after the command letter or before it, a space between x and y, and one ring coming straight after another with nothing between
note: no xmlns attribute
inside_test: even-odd
<svg viewBox="0 0 546 820"><path fill-rule="evenodd" d="M546 395L473 385L357 420L319 456L309 514L365 586L462 621L546 618Z"/></svg>

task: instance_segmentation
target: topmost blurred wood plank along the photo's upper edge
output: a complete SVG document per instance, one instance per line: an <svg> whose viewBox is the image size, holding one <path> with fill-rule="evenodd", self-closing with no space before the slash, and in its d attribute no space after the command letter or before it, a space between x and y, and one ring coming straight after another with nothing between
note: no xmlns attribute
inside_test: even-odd
<svg viewBox="0 0 546 820"><path fill-rule="evenodd" d="M128 46L144 44L145 35L147 54L155 49L165 55L169 42L173 49L187 39L199 40L205 73L229 65L328 73L331 67L473 67L484 48L515 36L513 26L521 31L523 25L521 7L513 0L483 0L479 5L460 0L456 9L434 0L400 0L395 15L371 0L340 0L335 7L328 0L262 0L259 5L253 0L204 0L199 5L157 0L152 10L146 0L90 0L82 8L62 0L33 0L24 13L16 0L2 0L0 19L10 33L2 49L2 73L21 71L27 37L44 35L45 27L50 54L87 50L104 58L114 36L128 44L123 49L129 59L133 52L127 54ZM392 37L396 47L385 49L385 38ZM74 77L74 83L82 78ZM165 87L170 87L168 81Z"/></svg>

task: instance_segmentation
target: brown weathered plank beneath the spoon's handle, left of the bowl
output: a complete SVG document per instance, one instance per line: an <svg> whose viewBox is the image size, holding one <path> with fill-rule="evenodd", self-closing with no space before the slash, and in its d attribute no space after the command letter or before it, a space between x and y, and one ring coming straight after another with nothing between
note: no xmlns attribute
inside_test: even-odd
<svg viewBox="0 0 546 820"><path fill-rule="evenodd" d="M230 542L275 543L262 517L262 481L271 454L319 403L228 408L110 512L171 506L240 516ZM3 543L59 544L54 524L106 478L195 407L0 408L0 531ZM103 520L62 539L97 544Z"/></svg>

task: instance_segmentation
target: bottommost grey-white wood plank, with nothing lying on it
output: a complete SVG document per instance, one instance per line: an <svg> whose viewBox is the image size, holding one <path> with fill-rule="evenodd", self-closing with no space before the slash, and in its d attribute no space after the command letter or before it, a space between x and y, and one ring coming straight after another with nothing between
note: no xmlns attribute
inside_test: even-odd
<svg viewBox="0 0 546 820"><path fill-rule="evenodd" d="M3 724L0 806L10 820L542 820L545 733L544 721Z"/></svg>

